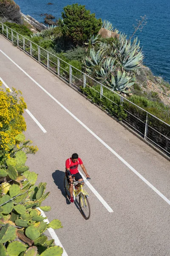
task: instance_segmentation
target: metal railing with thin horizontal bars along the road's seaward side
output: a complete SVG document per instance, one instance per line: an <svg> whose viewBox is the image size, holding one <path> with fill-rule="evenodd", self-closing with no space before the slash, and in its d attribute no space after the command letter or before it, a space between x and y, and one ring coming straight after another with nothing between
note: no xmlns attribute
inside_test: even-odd
<svg viewBox="0 0 170 256"><path fill-rule="evenodd" d="M170 125L0 22L0 33L170 156Z"/></svg>

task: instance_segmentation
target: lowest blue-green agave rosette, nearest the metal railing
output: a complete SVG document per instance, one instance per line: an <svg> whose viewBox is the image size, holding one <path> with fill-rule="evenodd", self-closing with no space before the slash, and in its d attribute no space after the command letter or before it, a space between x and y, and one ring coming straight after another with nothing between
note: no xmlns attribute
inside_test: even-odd
<svg viewBox="0 0 170 256"><path fill-rule="evenodd" d="M125 89L134 84L134 81L129 83L130 79L133 80L132 77L126 76L125 71L123 73L121 73L121 71L118 71L116 76L111 74L111 82L108 83L108 85L113 88L113 91L116 90L119 92L127 93Z"/></svg>

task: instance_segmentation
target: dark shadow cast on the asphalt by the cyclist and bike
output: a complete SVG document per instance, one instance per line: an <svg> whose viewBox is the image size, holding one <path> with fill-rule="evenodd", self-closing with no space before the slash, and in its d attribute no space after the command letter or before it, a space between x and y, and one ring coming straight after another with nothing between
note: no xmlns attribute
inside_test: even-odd
<svg viewBox="0 0 170 256"><path fill-rule="evenodd" d="M63 197L66 200L66 204L71 204L71 202L68 200L68 197L66 196L65 189L64 189L64 177L65 172L62 172L60 170L55 170L55 172L52 173L52 177L54 179L54 183L57 185L58 189L61 191ZM76 199L74 201L74 204L76 205L77 209L79 209L79 203ZM79 209L80 212L80 209Z"/></svg>

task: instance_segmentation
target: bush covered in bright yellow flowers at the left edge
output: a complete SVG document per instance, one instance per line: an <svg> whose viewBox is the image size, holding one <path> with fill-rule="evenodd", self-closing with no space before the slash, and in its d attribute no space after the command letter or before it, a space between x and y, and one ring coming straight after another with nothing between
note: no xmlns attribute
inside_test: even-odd
<svg viewBox="0 0 170 256"><path fill-rule="evenodd" d="M11 92L8 88L4 91L0 81L0 162L10 157L12 145L19 148L15 137L17 134L26 131L23 112L27 106L21 95L22 92L15 88L12 88ZM31 141L27 143L25 151L34 154L38 148L29 145L31 143Z"/></svg>

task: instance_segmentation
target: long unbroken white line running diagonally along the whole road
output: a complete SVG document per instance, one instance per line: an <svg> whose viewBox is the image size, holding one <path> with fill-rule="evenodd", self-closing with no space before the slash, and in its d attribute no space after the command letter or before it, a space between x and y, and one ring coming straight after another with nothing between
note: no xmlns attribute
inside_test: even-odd
<svg viewBox="0 0 170 256"><path fill-rule="evenodd" d="M91 131L83 122L81 122L74 114L72 114L67 108L65 108L57 99L55 99L47 90L45 90L40 84L38 84L31 76L29 76L26 71L24 71L17 63L15 63L8 55L6 55L2 50L0 52L3 53L12 63L14 63L23 73L26 74L35 84L37 84L45 93L48 94L55 102L57 102L65 111L67 111L74 119L79 122L87 131L89 131L99 142L101 142L108 150L110 150L119 160L122 161L132 172L134 172L141 180L144 181L153 191L155 191L167 204L170 205L170 200L167 199L158 189L156 189L148 180L146 180L139 172L137 172L129 163L127 163L119 154L117 154L108 144L106 144L102 139L100 139L93 131Z"/></svg>

